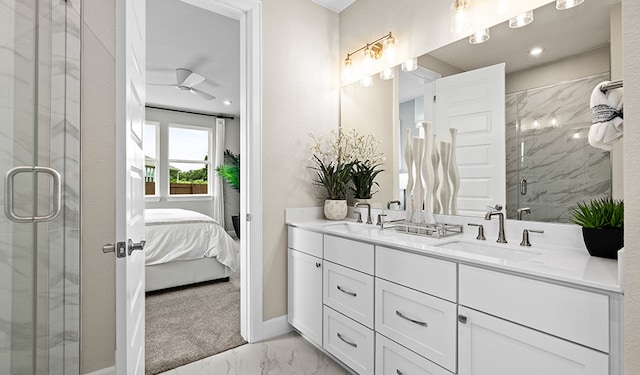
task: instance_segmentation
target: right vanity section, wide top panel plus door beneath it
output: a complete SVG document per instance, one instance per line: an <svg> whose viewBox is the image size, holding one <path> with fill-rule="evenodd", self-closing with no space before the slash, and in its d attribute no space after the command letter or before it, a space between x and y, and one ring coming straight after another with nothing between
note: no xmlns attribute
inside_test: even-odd
<svg viewBox="0 0 640 375"><path fill-rule="evenodd" d="M606 294L459 266L460 375L609 374Z"/></svg>

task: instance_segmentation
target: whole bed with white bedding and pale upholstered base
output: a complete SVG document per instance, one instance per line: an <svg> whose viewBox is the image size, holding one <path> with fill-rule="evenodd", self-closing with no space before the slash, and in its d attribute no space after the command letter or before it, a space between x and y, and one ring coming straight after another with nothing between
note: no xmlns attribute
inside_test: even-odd
<svg viewBox="0 0 640 375"><path fill-rule="evenodd" d="M238 244L211 217L145 210L145 291L224 279L238 268Z"/></svg>

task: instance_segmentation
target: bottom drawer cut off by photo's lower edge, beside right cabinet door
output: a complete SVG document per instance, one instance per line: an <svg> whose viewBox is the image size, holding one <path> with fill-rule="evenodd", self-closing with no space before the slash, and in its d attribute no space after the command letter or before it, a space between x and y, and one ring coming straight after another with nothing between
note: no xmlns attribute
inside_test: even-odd
<svg viewBox="0 0 640 375"><path fill-rule="evenodd" d="M376 334L376 375L451 375L393 340Z"/></svg>

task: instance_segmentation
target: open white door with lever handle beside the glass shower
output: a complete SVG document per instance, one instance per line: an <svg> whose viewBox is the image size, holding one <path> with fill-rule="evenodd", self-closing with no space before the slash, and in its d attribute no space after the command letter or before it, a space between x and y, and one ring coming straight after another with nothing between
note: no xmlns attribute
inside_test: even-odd
<svg viewBox="0 0 640 375"><path fill-rule="evenodd" d="M142 375L145 0L118 0L116 22L116 373Z"/></svg>

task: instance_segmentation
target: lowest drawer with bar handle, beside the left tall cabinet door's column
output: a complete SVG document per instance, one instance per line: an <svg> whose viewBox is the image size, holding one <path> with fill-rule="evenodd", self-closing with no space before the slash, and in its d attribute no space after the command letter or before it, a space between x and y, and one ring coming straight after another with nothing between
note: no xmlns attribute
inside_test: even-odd
<svg viewBox="0 0 640 375"><path fill-rule="evenodd" d="M374 334L339 312L324 307L323 348L359 375L373 375Z"/></svg>

